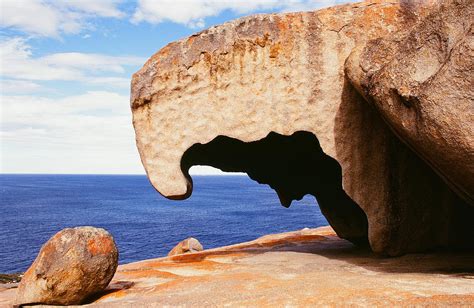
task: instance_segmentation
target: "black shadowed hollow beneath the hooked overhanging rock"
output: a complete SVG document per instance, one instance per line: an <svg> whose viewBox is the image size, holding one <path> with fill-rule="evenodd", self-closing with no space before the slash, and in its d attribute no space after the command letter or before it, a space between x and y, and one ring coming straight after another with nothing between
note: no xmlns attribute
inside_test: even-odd
<svg viewBox="0 0 474 308"><path fill-rule="evenodd" d="M183 172L187 174L194 165L245 172L273 188L285 207L311 194L340 237L367 243L367 217L342 188L339 163L323 152L313 133L298 131L284 136L271 132L254 142L218 136L207 144L194 144L184 153Z"/></svg>

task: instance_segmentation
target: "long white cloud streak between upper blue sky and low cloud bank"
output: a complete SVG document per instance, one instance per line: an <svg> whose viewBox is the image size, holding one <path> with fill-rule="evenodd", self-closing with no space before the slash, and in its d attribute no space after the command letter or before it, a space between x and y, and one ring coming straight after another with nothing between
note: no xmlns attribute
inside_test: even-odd
<svg viewBox="0 0 474 308"><path fill-rule="evenodd" d="M117 76L127 66L141 66L144 58L94 53L55 53L34 57L23 38L0 42L0 76L25 81L69 80L128 87L129 76ZM104 74L113 74L104 76Z"/></svg>

